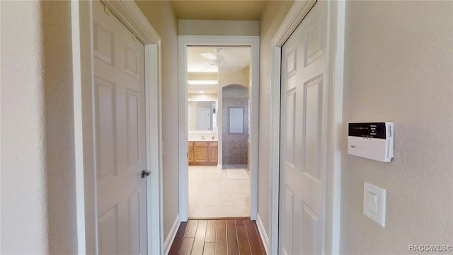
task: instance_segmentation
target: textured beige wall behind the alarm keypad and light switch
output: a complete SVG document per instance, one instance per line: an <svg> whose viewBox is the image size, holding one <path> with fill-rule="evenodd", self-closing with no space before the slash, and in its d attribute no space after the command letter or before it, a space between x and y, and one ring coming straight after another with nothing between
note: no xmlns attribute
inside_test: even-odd
<svg viewBox="0 0 453 255"><path fill-rule="evenodd" d="M341 254L452 244L453 2L347 1L343 130L393 120L390 163L346 154ZM386 227L362 215L363 181L386 188Z"/></svg>

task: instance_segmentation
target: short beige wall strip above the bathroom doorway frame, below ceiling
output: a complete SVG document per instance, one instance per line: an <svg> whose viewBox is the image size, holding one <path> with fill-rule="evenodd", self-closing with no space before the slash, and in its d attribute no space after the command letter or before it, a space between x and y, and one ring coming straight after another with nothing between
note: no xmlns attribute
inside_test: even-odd
<svg viewBox="0 0 453 255"><path fill-rule="evenodd" d="M259 35L259 21L179 20L179 35Z"/></svg>

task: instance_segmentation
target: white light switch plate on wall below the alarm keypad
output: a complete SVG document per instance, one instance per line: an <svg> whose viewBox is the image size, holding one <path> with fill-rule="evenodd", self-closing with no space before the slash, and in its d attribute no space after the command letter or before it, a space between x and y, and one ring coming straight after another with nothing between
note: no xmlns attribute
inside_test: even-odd
<svg viewBox="0 0 453 255"><path fill-rule="evenodd" d="M385 227L386 190L363 182L363 215Z"/></svg>

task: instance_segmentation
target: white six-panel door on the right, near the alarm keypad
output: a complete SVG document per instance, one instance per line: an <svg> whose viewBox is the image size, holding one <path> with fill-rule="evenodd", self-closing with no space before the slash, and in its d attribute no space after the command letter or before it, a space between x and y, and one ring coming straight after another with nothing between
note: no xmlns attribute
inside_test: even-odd
<svg viewBox="0 0 453 255"><path fill-rule="evenodd" d="M323 253L326 13L318 1L282 46L280 254Z"/></svg>

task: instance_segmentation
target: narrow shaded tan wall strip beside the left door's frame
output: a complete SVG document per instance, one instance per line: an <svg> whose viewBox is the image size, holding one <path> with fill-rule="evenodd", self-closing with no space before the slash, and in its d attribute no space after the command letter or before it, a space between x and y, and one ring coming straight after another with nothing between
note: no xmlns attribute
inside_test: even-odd
<svg viewBox="0 0 453 255"><path fill-rule="evenodd" d="M50 254L77 251L71 4L42 1Z"/></svg>

